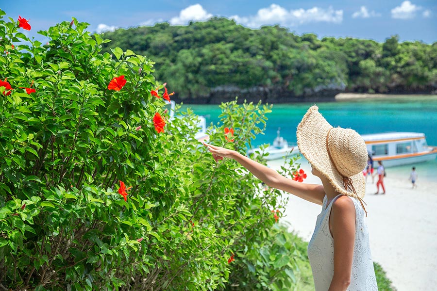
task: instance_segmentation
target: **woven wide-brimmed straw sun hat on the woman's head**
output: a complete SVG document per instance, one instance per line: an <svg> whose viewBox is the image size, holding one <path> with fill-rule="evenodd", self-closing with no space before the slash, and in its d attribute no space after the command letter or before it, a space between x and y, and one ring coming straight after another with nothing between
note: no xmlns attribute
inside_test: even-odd
<svg viewBox="0 0 437 291"><path fill-rule="evenodd" d="M315 105L303 116L296 136L299 150L313 168L338 193L358 198L362 203L366 192L362 172L368 159L363 138L353 129L332 127Z"/></svg>

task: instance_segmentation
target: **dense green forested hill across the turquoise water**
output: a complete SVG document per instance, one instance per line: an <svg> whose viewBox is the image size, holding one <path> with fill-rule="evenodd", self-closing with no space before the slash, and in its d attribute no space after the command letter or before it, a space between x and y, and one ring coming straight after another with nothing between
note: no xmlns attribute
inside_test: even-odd
<svg viewBox="0 0 437 291"><path fill-rule="evenodd" d="M235 96L270 103L313 101L333 99L339 92L437 90L437 42L400 43L397 36L384 43L318 39L279 26L253 30L226 18L118 29L104 37L112 40L104 44L106 51L131 49L156 62L156 78L167 81L174 99L185 103L220 103Z"/></svg>

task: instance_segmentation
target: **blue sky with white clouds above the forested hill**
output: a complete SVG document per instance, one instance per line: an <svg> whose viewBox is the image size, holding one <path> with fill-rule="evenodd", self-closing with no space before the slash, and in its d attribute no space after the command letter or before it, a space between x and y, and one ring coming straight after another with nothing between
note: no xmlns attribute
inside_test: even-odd
<svg viewBox="0 0 437 291"><path fill-rule="evenodd" d="M262 25L286 27L299 35L355 37L384 42L398 34L401 41L437 41L437 0L4 0L6 16L30 19L39 30L76 17L88 22L89 30L153 25L167 21L185 25L211 16L235 19L251 28ZM40 37L38 37L40 38Z"/></svg>

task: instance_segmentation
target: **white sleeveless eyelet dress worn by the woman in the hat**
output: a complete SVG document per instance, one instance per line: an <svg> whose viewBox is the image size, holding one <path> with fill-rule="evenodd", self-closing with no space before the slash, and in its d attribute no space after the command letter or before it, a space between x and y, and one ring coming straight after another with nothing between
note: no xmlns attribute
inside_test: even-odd
<svg viewBox="0 0 437 291"><path fill-rule="evenodd" d="M337 195L327 204L323 198L323 208L317 216L316 228L308 243L308 259L313 271L316 291L327 291L334 276L334 239L329 231L329 215ZM348 196L349 197L349 196ZM375 270L370 255L369 232L364 223L364 210L358 199L349 197L355 205L355 244L353 247L351 284L348 291L378 291Z"/></svg>

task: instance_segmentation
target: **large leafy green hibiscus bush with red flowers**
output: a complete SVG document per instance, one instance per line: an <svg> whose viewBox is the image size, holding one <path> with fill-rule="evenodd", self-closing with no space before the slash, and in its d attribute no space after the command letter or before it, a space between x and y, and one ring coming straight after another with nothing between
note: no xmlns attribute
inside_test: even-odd
<svg viewBox="0 0 437 291"><path fill-rule="evenodd" d="M3 16L0 289L294 286L301 252L272 233L286 199L215 162L192 111L169 115L151 60L101 53L107 40L75 18L39 32L42 44L23 33L32 23ZM244 152L270 108L222 104L211 143Z"/></svg>

